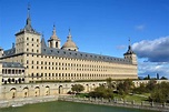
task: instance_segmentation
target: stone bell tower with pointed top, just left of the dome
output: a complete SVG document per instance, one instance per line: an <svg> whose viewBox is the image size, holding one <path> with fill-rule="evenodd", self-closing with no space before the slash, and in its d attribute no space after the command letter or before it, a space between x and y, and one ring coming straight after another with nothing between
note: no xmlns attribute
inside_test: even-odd
<svg viewBox="0 0 169 112"><path fill-rule="evenodd" d="M57 37L56 26L53 24L52 35L48 40L49 48L60 49L60 39Z"/></svg>

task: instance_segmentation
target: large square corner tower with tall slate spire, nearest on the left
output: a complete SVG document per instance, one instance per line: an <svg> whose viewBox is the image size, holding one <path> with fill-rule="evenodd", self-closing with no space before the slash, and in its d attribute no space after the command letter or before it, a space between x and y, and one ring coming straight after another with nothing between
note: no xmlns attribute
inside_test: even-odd
<svg viewBox="0 0 169 112"><path fill-rule="evenodd" d="M28 4L26 26L16 33L16 53L40 53L40 35L31 26L30 4Z"/></svg>

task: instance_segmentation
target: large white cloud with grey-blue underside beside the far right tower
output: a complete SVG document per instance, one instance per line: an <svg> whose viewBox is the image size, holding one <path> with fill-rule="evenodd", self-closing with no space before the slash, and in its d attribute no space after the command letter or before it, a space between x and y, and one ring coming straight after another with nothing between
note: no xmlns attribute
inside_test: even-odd
<svg viewBox="0 0 169 112"><path fill-rule="evenodd" d="M169 62L169 35L136 42L132 49L139 58L146 58L150 62Z"/></svg>

